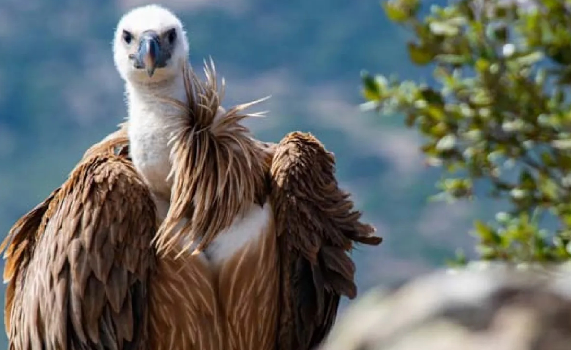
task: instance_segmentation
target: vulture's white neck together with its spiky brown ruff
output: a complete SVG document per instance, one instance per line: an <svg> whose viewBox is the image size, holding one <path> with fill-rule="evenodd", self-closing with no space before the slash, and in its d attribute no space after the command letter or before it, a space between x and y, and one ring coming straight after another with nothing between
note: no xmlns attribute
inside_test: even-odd
<svg viewBox="0 0 571 350"><path fill-rule="evenodd" d="M197 242L198 250L206 248L267 195L267 154L240 124L261 115L243 113L260 100L224 111L214 64L205 65L204 72L206 81L201 81L186 65L180 81L127 90L133 162L151 190L170 199L155 236L164 253L181 241L187 242L185 249ZM184 219L184 227L175 232Z"/></svg>

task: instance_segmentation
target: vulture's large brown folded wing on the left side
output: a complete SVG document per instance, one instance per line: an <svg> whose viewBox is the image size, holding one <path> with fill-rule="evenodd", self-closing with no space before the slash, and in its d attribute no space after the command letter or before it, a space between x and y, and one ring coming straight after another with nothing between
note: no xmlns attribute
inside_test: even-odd
<svg viewBox="0 0 571 350"><path fill-rule="evenodd" d="M3 243L9 348L147 348L155 229L131 164L107 150L86 155Z"/></svg>

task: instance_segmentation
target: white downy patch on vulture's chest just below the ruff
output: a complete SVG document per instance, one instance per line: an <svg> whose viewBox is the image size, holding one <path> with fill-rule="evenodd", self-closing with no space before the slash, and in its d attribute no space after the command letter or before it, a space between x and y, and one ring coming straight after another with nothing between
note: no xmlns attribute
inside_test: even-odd
<svg viewBox="0 0 571 350"><path fill-rule="evenodd" d="M208 260L218 265L233 257L250 243L260 240L270 227L271 206L252 205L246 216L236 218L232 225L220 232L206 249Z"/></svg>

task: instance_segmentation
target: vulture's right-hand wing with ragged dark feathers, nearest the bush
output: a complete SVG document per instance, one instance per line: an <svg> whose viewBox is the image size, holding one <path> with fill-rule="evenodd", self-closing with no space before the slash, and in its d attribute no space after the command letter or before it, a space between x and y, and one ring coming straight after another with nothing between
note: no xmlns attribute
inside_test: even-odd
<svg viewBox="0 0 571 350"><path fill-rule="evenodd" d="M291 133L275 146L271 200L281 264L278 349L305 350L327 335L341 295L354 298L354 242L377 245L337 186L335 159L311 134Z"/></svg>

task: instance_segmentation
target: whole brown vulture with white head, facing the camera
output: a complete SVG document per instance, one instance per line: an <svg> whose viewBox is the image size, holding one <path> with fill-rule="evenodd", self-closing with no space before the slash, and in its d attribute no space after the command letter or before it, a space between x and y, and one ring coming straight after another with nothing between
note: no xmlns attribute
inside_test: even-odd
<svg viewBox="0 0 571 350"><path fill-rule="evenodd" d="M258 101L224 109L212 60L191 69L180 20L120 19L113 53L127 120L2 244L9 348L309 350L355 244L378 245L317 138L258 141Z"/></svg>

